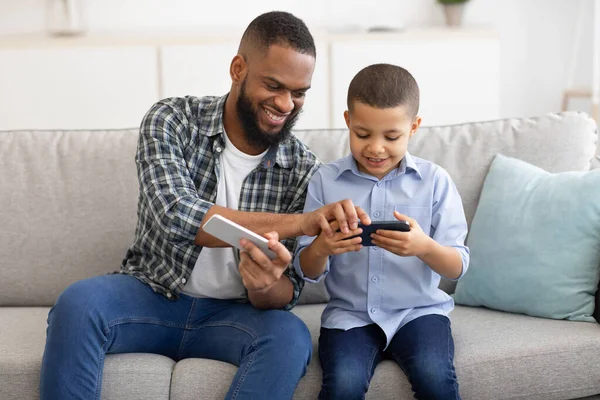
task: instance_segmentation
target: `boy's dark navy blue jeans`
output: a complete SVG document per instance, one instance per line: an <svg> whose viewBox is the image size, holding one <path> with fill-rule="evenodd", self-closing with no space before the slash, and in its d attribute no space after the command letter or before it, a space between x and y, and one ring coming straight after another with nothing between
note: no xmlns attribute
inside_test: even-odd
<svg viewBox="0 0 600 400"><path fill-rule="evenodd" d="M447 317L419 317L404 325L384 351L385 344L385 334L374 324L347 331L321 328L323 387L319 399L364 399L375 367L384 357L400 365L415 398L460 399Z"/></svg>

